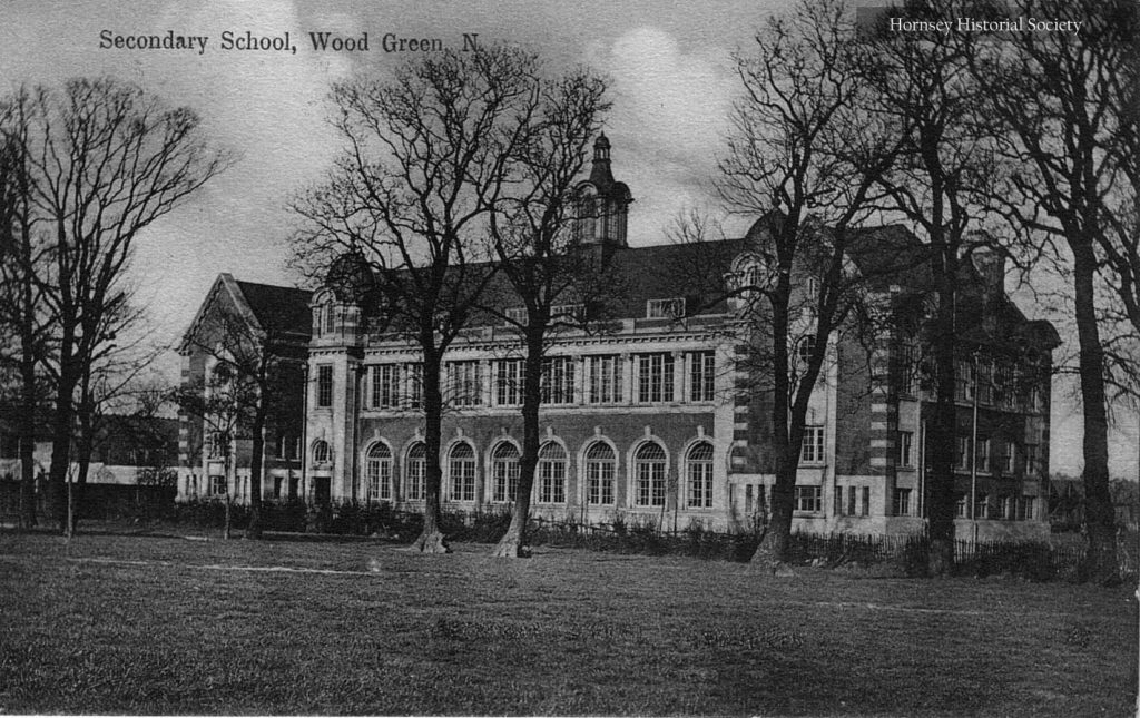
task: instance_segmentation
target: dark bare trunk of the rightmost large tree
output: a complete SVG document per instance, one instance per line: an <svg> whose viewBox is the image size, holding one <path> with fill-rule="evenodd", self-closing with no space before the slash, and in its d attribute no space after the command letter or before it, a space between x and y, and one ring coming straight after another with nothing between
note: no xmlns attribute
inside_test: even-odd
<svg viewBox="0 0 1140 718"><path fill-rule="evenodd" d="M1105 353L1094 305L1092 245L1072 242L1074 302L1081 346L1081 398L1084 405L1084 501L1089 531L1088 579L1102 585L1121 581L1116 563L1116 517L1108 490L1108 415L1105 400Z"/></svg>

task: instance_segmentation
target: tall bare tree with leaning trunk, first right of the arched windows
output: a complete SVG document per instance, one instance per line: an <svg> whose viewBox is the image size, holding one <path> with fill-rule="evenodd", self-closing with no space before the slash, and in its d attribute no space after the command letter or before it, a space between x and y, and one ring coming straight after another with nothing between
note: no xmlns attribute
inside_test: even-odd
<svg viewBox="0 0 1140 718"><path fill-rule="evenodd" d="M749 373L764 377L755 389L771 398L772 522L754 562L773 571L787 561L812 392L833 335L861 311L847 253L895 154L891 134L868 113L861 54L847 8L829 0L773 17L754 52L735 57L744 92L717 187L730 210L767 218L769 238L751 250L758 271L734 291L754 336ZM808 275L815 292L800 287ZM800 321L801 310L811 321Z"/></svg>

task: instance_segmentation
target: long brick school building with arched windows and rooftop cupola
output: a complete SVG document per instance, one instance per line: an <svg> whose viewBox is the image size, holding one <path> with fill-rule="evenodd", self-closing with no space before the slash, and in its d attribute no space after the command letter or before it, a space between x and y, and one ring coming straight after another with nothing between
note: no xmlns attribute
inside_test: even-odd
<svg viewBox="0 0 1140 718"><path fill-rule="evenodd" d="M602 523L620 516L666 529L747 530L765 521L774 481L765 439L769 400L763 369L744 349L759 329L742 319L747 297L723 297L732 283L764 271L780 218L757 221L740 239L630 247L630 191L614 181L604 136L578 197L584 219L576 237L605 258L621 289L608 300L616 318L608 331L567 329L548 350L535 513ZM885 227L863 232L850 259L876 277L868 282L871 302L891 313L923 307L931 284L921 260L893 277L882 258L920 253L909 232ZM1017 310L1002 276L992 254L963 262L959 311L971 329L962 334L955 491L962 520L977 517L980 535L1036 535L1048 530L1048 377L1057 335ZM811 267L793 277L804 293L816 280ZM421 506L415 348L372 331L378 324L361 307L328 288L315 292L308 308L303 392L298 386L304 455L288 467L300 473L298 491L310 500ZM445 360L442 498L446 508L506 509L521 452L521 353L502 320L484 316L472 324ZM809 312L798 327L808 334ZM921 529L923 416L933 395L915 337L898 329L870 342L848 333L831 341L797 479L800 528ZM270 496L272 482L266 486Z"/></svg>

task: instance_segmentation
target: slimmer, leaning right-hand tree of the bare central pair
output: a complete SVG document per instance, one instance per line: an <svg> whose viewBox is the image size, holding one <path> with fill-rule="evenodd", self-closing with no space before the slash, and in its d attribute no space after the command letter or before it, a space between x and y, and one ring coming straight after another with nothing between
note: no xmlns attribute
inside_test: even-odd
<svg viewBox="0 0 1140 718"><path fill-rule="evenodd" d="M545 352L560 329L588 319L586 307L597 299L598 279L606 275L602 256L576 242L577 205L573 189L585 163L589 140L598 130L605 82L588 71L555 80L532 79L534 107L507 164L510 188L490 214L492 256L506 278L505 287L521 300L524 317L502 311L499 300L488 293L484 309L506 319L520 336L522 369L522 455L511 525L495 555L516 558L526 542L530 497L535 486L540 441L539 407L543 384L556 381ZM598 142L606 142L602 137ZM606 154L608 162L608 154ZM496 309L496 305L499 309ZM570 311L560 310L571 307ZM580 307L581 309L573 309ZM555 390L556 391L556 390Z"/></svg>

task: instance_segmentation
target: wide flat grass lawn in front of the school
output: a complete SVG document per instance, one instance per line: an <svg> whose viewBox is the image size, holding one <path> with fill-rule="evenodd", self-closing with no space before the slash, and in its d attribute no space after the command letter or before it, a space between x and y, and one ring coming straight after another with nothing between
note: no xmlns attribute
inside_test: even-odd
<svg viewBox="0 0 1140 718"><path fill-rule="evenodd" d="M192 531L186 529L186 532ZM1129 588L0 533L0 713L1132 715Z"/></svg>

